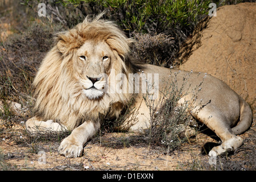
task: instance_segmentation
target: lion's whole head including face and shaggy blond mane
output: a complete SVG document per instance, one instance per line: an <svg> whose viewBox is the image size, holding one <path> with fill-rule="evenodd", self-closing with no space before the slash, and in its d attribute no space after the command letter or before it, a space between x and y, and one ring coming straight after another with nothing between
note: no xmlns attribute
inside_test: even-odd
<svg viewBox="0 0 256 182"><path fill-rule="evenodd" d="M57 34L34 80L36 114L74 129L85 119L107 112L118 115L129 101L125 93L108 93L110 74L135 71L128 59L131 39L114 23L86 18Z"/></svg>

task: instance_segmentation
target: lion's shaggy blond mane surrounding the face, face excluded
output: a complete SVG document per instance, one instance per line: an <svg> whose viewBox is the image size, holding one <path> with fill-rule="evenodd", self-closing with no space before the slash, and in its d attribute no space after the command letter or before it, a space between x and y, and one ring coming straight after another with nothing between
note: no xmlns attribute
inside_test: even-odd
<svg viewBox="0 0 256 182"><path fill-rule="evenodd" d="M53 119L74 129L86 119L97 119L99 114L117 116L129 101L127 94L105 94L98 100L89 100L81 92L72 64L76 51L86 40L105 41L115 55L115 73L133 73L136 65L129 60L131 42L113 22L86 17L71 30L57 34L53 48L40 65L33 86L35 114L44 121Z"/></svg>

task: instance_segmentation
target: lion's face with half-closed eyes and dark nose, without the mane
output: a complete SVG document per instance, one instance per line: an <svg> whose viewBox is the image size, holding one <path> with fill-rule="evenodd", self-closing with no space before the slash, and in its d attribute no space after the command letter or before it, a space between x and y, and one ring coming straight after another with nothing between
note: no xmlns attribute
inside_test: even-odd
<svg viewBox="0 0 256 182"><path fill-rule="evenodd" d="M93 43L88 40L77 49L75 69L79 74L82 93L90 100L104 96L108 81L105 74L109 75L113 60L113 51L106 42Z"/></svg>

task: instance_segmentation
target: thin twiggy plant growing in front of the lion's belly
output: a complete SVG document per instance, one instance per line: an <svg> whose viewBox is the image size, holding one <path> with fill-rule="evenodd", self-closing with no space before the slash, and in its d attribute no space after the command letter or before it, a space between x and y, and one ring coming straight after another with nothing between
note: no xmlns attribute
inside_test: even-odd
<svg viewBox="0 0 256 182"><path fill-rule="evenodd" d="M146 135L150 138L150 143L164 146L168 151L175 150L182 142L195 135L198 129L195 119L188 112L196 108L197 94L201 90L200 86L203 84L204 78L199 85L188 91L191 85L187 80L192 71L183 78L180 88L177 86L179 73L180 71L174 73L173 78L168 78L167 86L159 90L158 100L148 99L148 93L143 97L150 110L150 127L146 131ZM163 82L166 81L163 80ZM192 94L191 101L185 101L185 104L179 105L178 101L188 94ZM197 112L205 106L201 105L201 101L199 105Z"/></svg>

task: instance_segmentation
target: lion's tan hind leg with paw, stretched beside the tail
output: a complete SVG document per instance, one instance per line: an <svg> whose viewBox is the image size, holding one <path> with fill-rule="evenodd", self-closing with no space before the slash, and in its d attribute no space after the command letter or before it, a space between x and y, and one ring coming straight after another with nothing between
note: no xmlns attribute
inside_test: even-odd
<svg viewBox="0 0 256 182"><path fill-rule="evenodd" d="M220 146L213 147L210 150L209 156L226 155L229 152L236 151L242 145L243 139L234 135L227 118L221 115L220 111L207 106L207 108L200 111L195 111L193 116L216 133L222 141Z"/></svg>

